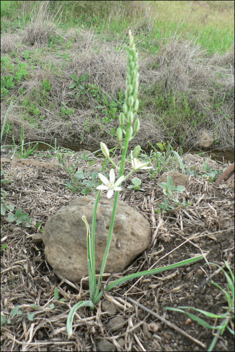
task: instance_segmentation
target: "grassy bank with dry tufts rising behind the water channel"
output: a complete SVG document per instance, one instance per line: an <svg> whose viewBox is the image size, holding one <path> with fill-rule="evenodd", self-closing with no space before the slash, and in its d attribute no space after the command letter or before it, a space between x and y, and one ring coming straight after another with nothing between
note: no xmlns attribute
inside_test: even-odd
<svg viewBox="0 0 235 352"><path fill-rule="evenodd" d="M48 18L47 2L41 12L25 3L1 1L1 101L3 113L14 101L6 128L16 138L24 123L31 140L114 145L130 27L141 58L139 115L145 126L138 142L192 146L205 128L215 144L232 148L233 1L131 2L124 12L116 2L104 10L101 2L70 1L61 21ZM60 3L50 13L56 15ZM84 90L69 89L72 73L89 74Z"/></svg>

